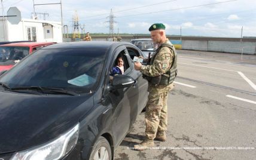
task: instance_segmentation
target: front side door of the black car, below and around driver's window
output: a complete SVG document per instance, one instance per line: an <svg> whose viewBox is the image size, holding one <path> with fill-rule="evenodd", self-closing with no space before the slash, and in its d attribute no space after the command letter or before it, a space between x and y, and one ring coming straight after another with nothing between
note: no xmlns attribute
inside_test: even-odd
<svg viewBox="0 0 256 160"><path fill-rule="evenodd" d="M130 63L127 62L126 48L120 46L114 50L114 56L112 57L109 73L112 67L114 67L114 61L117 58L118 54L122 54L124 57L124 75L130 75ZM111 83L111 82L109 82ZM112 125L112 131L114 134L114 141L121 143L121 140L126 136L126 133L129 131L132 122L134 121L134 93L138 93L138 90L134 87L129 88L120 88L112 90L108 93L109 100L112 104L112 115L114 125ZM131 99L132 97L132 99ZM138 101L138 99L136 100Z"/></svg>

